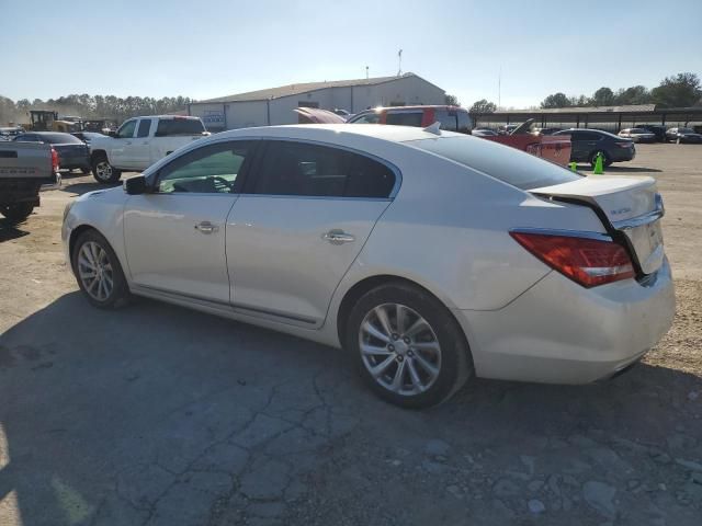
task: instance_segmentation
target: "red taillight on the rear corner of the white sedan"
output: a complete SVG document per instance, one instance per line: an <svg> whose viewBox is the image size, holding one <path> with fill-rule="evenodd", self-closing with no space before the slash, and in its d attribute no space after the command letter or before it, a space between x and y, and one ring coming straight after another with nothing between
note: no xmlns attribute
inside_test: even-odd
<svg viewBox="0 0 702 526"><path fill-rule="evenodd" d="M634 265L626 249L613 241L525 231L512 231L510 236L545 264L584 287L634 277Z"/></svg>

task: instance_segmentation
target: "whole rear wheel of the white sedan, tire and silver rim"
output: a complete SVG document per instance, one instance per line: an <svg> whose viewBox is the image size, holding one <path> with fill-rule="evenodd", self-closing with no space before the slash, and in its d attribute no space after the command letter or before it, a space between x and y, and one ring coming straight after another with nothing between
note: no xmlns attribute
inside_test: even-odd
<svg viewBox="0 0 702 526"><path fill-rule="evenodd" d="M463 331L437 298L404 283L366 293L351 310L346 346L384 400L428 408L449 399L473 371Z"/></svg>

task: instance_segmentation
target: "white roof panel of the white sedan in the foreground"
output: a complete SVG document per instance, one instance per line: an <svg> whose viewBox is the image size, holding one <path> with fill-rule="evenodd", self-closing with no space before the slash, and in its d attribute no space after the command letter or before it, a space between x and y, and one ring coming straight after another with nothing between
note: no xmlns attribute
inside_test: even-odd
<svg viewBox="0 0 702 526"><path fill-rule="evenodd" d="M414 126L393 126L382 124L296 124L288 126L261 126L222 132L212 137L287 137L296 139L317 139L338 141L340 135L371 137L392 142L435 139L437 135ZM442 136L460 136L453 132L441 132Z"/></svg>

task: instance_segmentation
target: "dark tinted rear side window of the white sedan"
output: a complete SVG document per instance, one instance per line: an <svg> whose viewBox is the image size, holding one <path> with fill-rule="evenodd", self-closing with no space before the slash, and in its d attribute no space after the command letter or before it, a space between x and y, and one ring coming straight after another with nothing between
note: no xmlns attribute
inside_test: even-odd
<svg viewBox="0 0 702 526"><path fill-rule="evenodd" d="M395 172L340 148L295 141L268 142L254 194L387 198Z"/></svg>

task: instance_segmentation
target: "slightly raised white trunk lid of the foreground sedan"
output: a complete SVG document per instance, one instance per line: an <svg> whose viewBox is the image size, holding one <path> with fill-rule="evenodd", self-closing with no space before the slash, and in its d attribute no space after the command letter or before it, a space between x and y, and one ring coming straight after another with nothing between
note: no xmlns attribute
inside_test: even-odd
<svg viewBox="0 0 702 526"><path fill-rule="evenodd" d="M664 207L653 178L588 176L534 188L531 193L593 206L610 233L624 237L643 274L652 274L663 264Z"/></svg>

